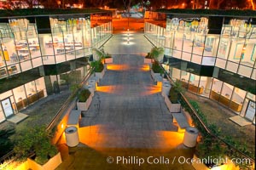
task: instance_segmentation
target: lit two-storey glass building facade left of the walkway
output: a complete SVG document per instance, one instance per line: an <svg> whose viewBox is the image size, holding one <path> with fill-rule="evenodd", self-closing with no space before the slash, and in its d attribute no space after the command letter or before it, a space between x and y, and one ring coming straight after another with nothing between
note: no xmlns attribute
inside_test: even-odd
<svg viewBox="0 0 256 170"><path fill-rule="evenodd" d="M80 82L111 36L111 13L0 18L0 122Z"/></svg>

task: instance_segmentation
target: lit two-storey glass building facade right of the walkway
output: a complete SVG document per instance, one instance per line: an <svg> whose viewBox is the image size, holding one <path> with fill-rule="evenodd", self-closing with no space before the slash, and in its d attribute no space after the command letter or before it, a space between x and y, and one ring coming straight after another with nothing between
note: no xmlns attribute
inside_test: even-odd
<svg viewBox="0 0 256 170"><path fill-rule="evenodd" d="M174 81L255 124L255 16L152 14L145 36Z"/></svg>

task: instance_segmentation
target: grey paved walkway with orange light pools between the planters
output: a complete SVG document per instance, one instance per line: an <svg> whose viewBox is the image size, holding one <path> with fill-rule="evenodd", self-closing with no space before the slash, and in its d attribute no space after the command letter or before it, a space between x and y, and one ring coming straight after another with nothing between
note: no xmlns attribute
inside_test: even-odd
<svg viewBox="0 0 256 170"><path fill-rule="evenodd" d="M83 113L79 139L79 146L68 150L62 138L63 163L57 169L194 169L178 162L193 150L183 146L183 133L172 124L142 56L113 56Z"/></svg>

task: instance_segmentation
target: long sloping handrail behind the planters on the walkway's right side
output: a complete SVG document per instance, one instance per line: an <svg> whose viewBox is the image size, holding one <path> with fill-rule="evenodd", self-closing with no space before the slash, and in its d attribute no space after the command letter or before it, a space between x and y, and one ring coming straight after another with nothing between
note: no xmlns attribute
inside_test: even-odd
<svg viewBox="0 0 256 170"><path fill-rule="evenodd" d="M162 65L160 65L162 67ZM162 69L165 71L165 75L168 78L168 80L172 83L174 83L174 81L172 80L172 78L167 74L166 70L162 67ZM207 127L207 125L201 120L201 117L198 116L197 112L195 111L194 107L189 103L188 99L182 94L181 96L183 97L185 103L187 105L189 105L189 108L191 109L191 111L193 112L193 114L196 116L196 118L199 120L199 122L201 123L202 127L204 127L204 129L207 131L208 134L210 134L213 138L218 139L219 141L223 142L224 144L226 144L227 146L229 146L232 150L235 150L236 152L238 152L239 154L241 154L241 156L246 157L247 159L249 159L250 161L252 161L253 163L255 162L255 160L249 156L247 156L246 154L244 154L243 152L241 152L241 150L237 150L233 145L227 143L226 141L224 141L224 139L219 138L217 135L215 135L214 133L212 133L212 131Z"/></svg>

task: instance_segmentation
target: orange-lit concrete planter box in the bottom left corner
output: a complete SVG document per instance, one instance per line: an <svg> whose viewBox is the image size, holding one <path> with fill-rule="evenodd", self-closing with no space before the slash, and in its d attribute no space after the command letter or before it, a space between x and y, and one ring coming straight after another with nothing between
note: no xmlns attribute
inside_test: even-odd
<svg viewBox="0 0 256 170"><path fill-rule="evenodd" d="M57 153L55 156L49 159L44 165L38 164L36 161L33 161L30 158L27 158L28 165L30 169L37 169L37 170L48 170L48 169L55 169L58 167L62 160L61 160L61 153Z"/></svg>

